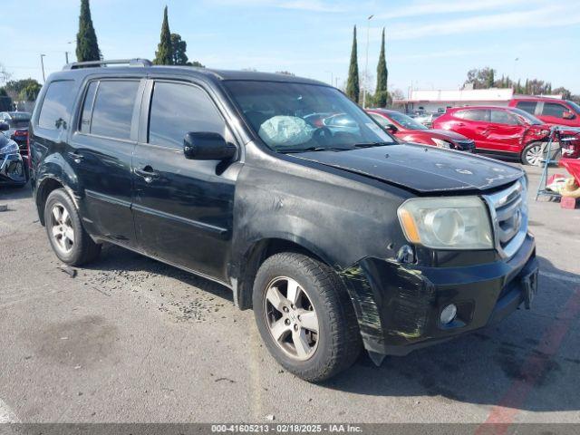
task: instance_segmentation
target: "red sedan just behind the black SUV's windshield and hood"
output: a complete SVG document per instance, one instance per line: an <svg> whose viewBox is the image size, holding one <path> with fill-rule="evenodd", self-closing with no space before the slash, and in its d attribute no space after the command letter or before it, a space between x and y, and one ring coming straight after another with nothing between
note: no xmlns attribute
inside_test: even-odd
<svg viewBox="0 0 580 435"><path fill-rule="evenodd" d="M445 130L432 130L400 111L369 109L367 113L382 127L405 142L424 143L440 148L474 152L475 142L465 136Z"/></svg>

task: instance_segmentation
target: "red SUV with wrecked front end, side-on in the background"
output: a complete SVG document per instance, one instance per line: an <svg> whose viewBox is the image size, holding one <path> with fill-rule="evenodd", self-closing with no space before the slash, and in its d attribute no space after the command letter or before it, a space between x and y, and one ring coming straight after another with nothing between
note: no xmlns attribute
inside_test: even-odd
<svg viewBox="0 0 580 435"><path fill-rule="evenodd" d="M527 165L540 164L542 143L549 139L550 133L549 125L527 111L511 107L456 107L448 109L434 125L475 140L478 152L517 157ZM577 135L563 144L565 157L575 159L579 151Z"/></svg>

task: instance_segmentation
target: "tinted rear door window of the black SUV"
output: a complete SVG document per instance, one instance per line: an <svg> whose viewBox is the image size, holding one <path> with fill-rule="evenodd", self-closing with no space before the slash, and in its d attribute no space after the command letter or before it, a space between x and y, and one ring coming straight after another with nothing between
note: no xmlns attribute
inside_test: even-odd
<svg viewBox="0 0 580 435"><path fill-rule="evenodd" d="M133 105L138 88L139 82L100 82L92 108L91 133L130 139Z"/></svg>

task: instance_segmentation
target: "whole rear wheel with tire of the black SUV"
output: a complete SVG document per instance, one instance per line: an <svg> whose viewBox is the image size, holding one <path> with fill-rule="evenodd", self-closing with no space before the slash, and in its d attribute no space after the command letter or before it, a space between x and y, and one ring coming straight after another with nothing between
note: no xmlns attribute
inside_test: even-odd
<svg viewBox="0 0 580 435"><path fill-rule="evenodd" d="M101 253L101 245L82 227L79 212L64 189L53 190L46 199L44 227L54 254L67 265L84 265Z"/></svg>

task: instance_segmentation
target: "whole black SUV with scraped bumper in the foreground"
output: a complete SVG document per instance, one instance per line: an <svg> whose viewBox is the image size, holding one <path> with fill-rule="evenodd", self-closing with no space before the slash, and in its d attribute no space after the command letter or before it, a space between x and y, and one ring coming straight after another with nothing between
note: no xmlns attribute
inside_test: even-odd
<svg viewBox="0 0 580 435"><path fill-rule="evenodd" d="M64 263L113 243L227 285L313 382L529 307L520 169L398 143L321 82L127 63L67 65L34 110L34 200Z"/></svg>

